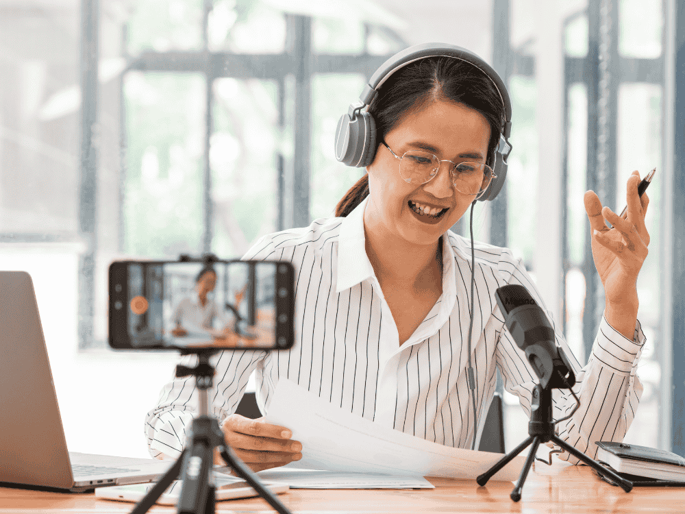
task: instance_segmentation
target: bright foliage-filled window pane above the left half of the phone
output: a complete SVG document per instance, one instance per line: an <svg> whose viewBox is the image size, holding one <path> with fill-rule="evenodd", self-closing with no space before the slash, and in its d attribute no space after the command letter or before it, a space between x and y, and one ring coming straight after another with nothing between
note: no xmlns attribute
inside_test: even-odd
<svg viewBox="0 0 685 514"><path fill-rule="evenodd" d="M200 252L205 81L129 73L124 95L125 252L152 258Z"/></svg>

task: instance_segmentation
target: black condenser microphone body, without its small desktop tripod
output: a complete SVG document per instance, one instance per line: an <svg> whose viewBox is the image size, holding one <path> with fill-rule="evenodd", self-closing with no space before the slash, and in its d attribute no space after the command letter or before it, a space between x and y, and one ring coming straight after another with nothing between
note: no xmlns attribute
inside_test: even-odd
<svg viewBox="0 0 685 514"><path fill-rule="evenodd" d="M575 374L564 350L556 343L554 329L545 311L536 304L527 289L517 284L495 291L504 324L540 379L540 385L563 389L573 387ZM557 372L558 371L558 372ZM562 377L566 380L562 380Z"/></svg>

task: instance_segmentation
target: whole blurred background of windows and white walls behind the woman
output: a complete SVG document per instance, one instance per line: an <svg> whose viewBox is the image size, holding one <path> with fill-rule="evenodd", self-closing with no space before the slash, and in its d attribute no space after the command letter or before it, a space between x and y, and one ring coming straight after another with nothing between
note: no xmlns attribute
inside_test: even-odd
<svg viewBox="0 0 685 514"><path fill-rule="evenodd" d="M110 262L239 257L332 216L362 173L334 158L338 118L386 58L440 41L512 98L506 188L476 238L523 260L583 364L603 312L583 194L620 212L627 176L657 168L625 441L685 455L683 4L0 0L0 269L34 279L70 450L147 456L143 415L177 360L109 350ZM527 417L503 397L511 449Z"/></svg>

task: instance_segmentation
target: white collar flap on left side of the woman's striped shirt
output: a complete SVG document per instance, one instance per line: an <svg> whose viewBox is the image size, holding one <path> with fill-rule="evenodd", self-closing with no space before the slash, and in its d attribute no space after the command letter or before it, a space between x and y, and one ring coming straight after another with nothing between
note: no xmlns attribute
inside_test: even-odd
<svg viewBox="0 0 685 514"><path fill-rule="evenodd" d="M367 196L340 223L336 293L374 276L364 238L364 209L368 201Z"/></svg>

